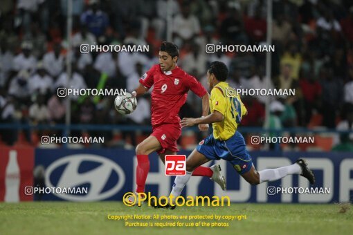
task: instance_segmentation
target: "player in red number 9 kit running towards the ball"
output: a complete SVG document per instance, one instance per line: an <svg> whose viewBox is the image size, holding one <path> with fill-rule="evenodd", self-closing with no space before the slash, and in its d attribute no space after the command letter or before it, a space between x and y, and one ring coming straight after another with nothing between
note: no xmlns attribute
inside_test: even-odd
<svg viewBox="0 0 353 235"><path fill-rule="evenodd" d="M181 135L179 110L185 104L188 91L201 97L202 115L208 115L209 95L200 82L188 75L177 66L179 48L170 42L163 41L159 49L159 64L150 68L140 79L140 85L132 92L138 96L146 93L152 86L152 134L136 147L136 194L145 191L145 182L150 170L148 155L157 151L159 158L164 163L165 155L176 154L177 140ZM199 124L200 131L207 131L208 124ZM217 182L224 190L226 182L220 174L219 165L212 167L198 167L192 176L208 176ZM129 203L134 198L129 197Z"/></svg>

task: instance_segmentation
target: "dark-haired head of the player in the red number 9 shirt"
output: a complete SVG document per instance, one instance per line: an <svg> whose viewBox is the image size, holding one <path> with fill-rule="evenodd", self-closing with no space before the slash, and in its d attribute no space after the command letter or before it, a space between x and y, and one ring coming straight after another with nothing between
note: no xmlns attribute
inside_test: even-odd
<svg viewBox="0 0 353 235"><path fill-rule="evenodd" d="M162 71L171 71L176 65L179 57L177 45L163 41L159 48L159 65Z"/></svg>

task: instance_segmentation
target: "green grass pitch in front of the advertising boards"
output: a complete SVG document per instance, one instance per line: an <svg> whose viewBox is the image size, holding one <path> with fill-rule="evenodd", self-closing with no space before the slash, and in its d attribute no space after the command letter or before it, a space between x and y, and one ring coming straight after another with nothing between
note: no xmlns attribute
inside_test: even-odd
<svg viewBox="0 0 353 235"><path fill-rule="evenodd" d="M345 207L342 213L342 207ZM246 215L229 227L125 227L108 215ZM129 220L132 222L132 220ZM146 220L134 220L145 222ZM147 220L174 222L175 220ZM190 222L188 220L179 220ZM191 220L191 222L206 220ZM221 220L226 222L226 220ZM211 220L208 220L212 223ZM0 203L0 234L353 234L350 205L238 204L178 207L174 211L127 207L121 202Z"/></svg>

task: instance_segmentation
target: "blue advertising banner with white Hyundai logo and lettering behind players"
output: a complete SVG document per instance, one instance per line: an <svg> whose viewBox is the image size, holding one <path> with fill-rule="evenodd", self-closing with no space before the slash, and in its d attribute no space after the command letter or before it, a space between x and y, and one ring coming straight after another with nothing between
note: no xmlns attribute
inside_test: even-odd
<svg viewBox="0 0 353 235"><path fill-rule="evenodd" d="M190 151L180 151L188 156ZM257 171L293 164L305 158L316 176L311 187L301 176L292 175L275 182L249 185L233 166L221 160L227 189L212 180L195 176L190 179L183 196L228 196L239 203L337 203L353 198L353 154L320 152L252 151ZM126 192L134 191L136 154L123 149L36 149L35 168L42 166L45 186L52 190L35 195L35 200L121 200ZM208 162L211 166L215 162ZM150 173L146 191L153 196L168 196L174 176L165 176L165 167L154 153L150 155ZM79 188L64 194L60 190ZM55 191L55 190L56 191ZM86 189L86 190L85 190Z"/></svg>

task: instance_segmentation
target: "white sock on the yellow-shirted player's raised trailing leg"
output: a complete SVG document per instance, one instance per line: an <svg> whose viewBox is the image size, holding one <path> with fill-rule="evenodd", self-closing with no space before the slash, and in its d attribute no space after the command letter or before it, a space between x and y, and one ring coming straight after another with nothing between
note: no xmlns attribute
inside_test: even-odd
<svg viewBox="0 0 353 235"><path fill-rule="evenodd" d="M260 184L266 181L275 181L283 178L284 176L293 175L295 173L302 173L302 169L296 163L291 164L287 167L280 167L275 169L264 169L259 171L260 175Z"/></svg>

